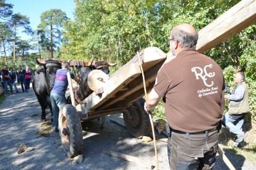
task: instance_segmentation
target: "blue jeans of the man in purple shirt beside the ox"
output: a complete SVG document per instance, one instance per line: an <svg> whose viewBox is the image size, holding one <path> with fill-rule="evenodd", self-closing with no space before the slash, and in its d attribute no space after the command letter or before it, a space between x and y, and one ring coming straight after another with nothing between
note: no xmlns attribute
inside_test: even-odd
<svg viewBox="0 0 256 170"><path fill-rule="evenodd" d="M51 99L51 109L53 111L53 123L55 127L59 127L59 109L67 104L67 100L65 96L59 94L50 94Z"/></svg>

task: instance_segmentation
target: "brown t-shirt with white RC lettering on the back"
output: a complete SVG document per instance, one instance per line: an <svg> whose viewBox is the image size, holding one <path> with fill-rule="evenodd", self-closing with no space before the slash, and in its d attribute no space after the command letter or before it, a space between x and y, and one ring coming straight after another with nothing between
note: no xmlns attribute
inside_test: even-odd
<svg viewBox="0 0 256 170"><path fill-rule="evenodd" d="M154 89L164 97L166 119L173 129L201 132L221 120L223 72L214 60L195 49L186 49L164 64Z"/></svg>

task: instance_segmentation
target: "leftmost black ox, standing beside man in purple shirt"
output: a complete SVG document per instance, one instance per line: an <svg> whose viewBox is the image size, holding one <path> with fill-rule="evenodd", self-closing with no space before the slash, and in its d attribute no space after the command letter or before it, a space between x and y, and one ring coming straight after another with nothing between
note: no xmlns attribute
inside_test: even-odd
<svg viewBox="0 0 256 170"><path fill-rule="evenodd" d="M32 83L35 95L41 106L41 121L46 121L45 110L51 110L50 92L53 89L56 71L61 68L61 62L57 60L47 60L46 62L36 62L43 67L34 70L34 80ZM53 112L51 110L51 114Z"/></svg>

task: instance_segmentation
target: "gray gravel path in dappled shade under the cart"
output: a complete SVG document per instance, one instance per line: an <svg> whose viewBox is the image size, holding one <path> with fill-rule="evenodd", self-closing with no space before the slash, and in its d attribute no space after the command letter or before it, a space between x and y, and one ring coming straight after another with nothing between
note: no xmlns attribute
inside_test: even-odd
<svg viewBox="0 0 256 170"><path fill-rule="evenodd" d="M40 114L41 108L32 88L27 93L9 95L0 105L0 169L148 169L104 155L103 150L135 156L144 164L155 165L153 142L145 143L135 139L127 129L109 121L115 119L123 124L121 114L106 116L103 129L100 129L101 119L83 126L86 132L83 136L82 163L74 163L66 156L53 125L44 127L49 131L46 131L45 136L38 135L37 131L43 126ZM51 118L51 115L48 114L47 118ZM21 144L33 147L33 150L18 154ZM156 141L156 145L159 168L169 169L166 143ZM240 159L237 156L227 156L236 169L256 169L256 164L247 163L242 155L239 156ZM228 169L220 156L217 156L214 169Z"/></svg>

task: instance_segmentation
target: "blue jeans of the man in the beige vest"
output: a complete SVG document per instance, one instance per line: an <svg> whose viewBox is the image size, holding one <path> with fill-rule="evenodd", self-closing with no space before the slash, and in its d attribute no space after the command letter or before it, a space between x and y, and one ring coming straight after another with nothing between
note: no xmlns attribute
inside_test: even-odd
<svg viewBox="0 0 256 170"><path fill-rule="evenodd" d="M236 134L237 137L244 135L242 131L242 124L244 124L244 114L240 115L229 115L225 113L222 124L229 129L229 131Z"/></svg>

